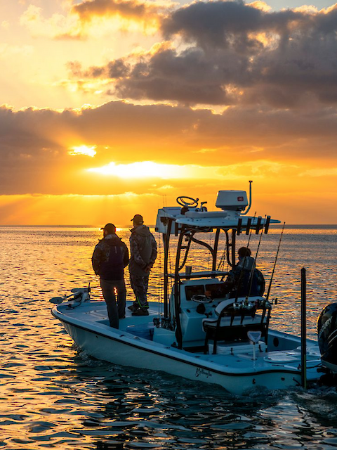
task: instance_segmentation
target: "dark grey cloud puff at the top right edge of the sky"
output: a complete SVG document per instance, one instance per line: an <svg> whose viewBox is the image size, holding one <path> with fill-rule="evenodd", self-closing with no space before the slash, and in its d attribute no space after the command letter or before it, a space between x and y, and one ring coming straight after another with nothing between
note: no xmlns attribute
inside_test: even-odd
<svg viewBox="0 0 337 450"><path fill-rule="evenodd" d="M265 12L243 1L200 1L171 13L161 29L166 39L179 35L204 48L232 47L251 55L263 48L259 33L275 34L283 43L292 34L312 32L315 27L327 31L319 25L320 17L290 9Z"/></svg>

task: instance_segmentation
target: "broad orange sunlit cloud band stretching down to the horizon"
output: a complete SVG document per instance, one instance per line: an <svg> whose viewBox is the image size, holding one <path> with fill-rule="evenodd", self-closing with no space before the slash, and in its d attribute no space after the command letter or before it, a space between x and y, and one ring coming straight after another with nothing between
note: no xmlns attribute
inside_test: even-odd
<svg viewBox="0 0 337 450"><path fill-rule="evenodd" d="M309 217L325 205L313 208L313 196L337 201L336 145L336 118L329 109L257 113L234 107L215 114L125 102L63 111L3 106L1 220L57 224L62 217L62 223L78 224L83 217L87 224L88 205L98 214L106 195L115 199L114 211L127 214L121 200L127 198L131 209L139 207L154 220L164 194L170 203L178 195L202 194L212 205L220 188L246 188L249 179L254 195L267 202L263 214L279 215L278 198L288 195ZM71 148L81 151L70 155ZM284 219L295 221L295 210L290 214L285 200L282 205L290 217ZM74 211L80 212L77 221ZM326 211L324 221L333 223L335 212Z"/></svg>

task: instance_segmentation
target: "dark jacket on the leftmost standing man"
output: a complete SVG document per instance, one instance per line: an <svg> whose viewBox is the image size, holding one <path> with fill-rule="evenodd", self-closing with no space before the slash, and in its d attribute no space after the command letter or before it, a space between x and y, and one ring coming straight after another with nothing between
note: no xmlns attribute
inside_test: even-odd
<svg viewBox="0 0 337 450"><path fill-rule="evenodd" d="M128 248L116 234L108 234L93 250L93 270L103 280L122 280L128 265Z"/></svg>

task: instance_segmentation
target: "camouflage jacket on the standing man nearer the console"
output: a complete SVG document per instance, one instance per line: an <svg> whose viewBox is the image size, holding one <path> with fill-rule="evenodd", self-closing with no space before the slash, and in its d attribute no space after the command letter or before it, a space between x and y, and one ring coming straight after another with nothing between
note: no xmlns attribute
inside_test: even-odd
<svg viewBox="0 0 337 450"><path fill-rule="evenodd" d="M148 226L139 225L131 230L130 251L130 275L148 275L149 266L152 267L157 258L157 243Z"/></svg>

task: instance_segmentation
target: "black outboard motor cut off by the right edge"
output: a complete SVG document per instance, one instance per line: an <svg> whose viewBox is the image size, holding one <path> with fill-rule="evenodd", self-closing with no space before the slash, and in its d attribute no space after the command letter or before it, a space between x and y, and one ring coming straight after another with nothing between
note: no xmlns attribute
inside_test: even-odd
<svg viewBox="0 0 337 450"><path fill-rule="evenodd" d="M319 314L317 334L322 363L337 373L337 303L329 304Z"/></svg>

